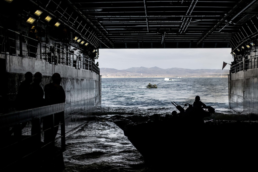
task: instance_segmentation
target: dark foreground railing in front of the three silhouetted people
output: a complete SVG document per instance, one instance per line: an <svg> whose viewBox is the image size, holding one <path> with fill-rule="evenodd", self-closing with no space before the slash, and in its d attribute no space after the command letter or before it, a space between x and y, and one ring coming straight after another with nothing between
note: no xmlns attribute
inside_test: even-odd
<svg viewBox="0 0 258 172"><path fill-rule="evenodd" d="M17 164L26 164L27 161L30 161L27 165L31 164L34 159L40 163L44 157L53 158L54 152L60 154L65 151L64 106L64 103L60 103L0 114L2 132L0 152L3 157L0 171ZM60 117L60 124L56 126L54 126L54 114ZM44 124L50 127L44 127ZM60 132L55 137L55 128L58 129L59 126ZM48 139L45 133L48 133Z"/></svg>

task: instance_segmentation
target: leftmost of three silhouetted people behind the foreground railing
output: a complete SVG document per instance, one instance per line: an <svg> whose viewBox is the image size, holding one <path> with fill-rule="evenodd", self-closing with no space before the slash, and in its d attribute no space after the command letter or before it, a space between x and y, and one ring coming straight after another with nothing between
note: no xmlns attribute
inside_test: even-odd
<svg viewBox="0 0 258 172"><path fill-rule="evenodd" d="M22 81L16 94L16 109L25 110L30 108L30 83L33 81L33 74L31 72L25 73L25 80Z"/></svg>

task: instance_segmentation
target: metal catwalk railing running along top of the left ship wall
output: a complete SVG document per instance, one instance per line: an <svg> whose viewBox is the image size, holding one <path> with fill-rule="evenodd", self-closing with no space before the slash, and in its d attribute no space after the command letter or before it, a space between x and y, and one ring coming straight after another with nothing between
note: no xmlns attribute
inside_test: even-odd
<svg viewBox="0 0 258 172"><path fill-rule="evenodd" d="M63 46L64 44L61 43L61 45L60 42L55 43L54 46L44 42L47 41L41 42L17 31L4 30L0 27L1 52L43 59L55 65L64 64L76 69L86 69L99 75L98 66L89 57L75 54L74 50L68 49L68 45Z"/></svg>

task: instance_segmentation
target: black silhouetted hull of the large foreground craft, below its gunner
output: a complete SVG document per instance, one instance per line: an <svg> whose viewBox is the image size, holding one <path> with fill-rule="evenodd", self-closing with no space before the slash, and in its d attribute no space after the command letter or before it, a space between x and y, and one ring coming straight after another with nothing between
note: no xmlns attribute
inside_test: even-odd
<svg viewBox="0 0 258 172"><path fill-rule="evenodd" d="M247 170L257 162L257 121L114 121L152 167ZM216 165L214 165L216 164Z"/></svg>

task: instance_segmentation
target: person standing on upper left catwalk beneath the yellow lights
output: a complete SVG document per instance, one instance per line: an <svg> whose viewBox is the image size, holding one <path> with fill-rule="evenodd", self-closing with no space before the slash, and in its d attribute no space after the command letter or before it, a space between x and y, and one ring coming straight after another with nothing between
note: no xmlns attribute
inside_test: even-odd
<svg viewBox="0 0 258 172"><path fill-rule="evenodd" d="M36 58L36 53L38 49L38 43L39 39L36 36L37 30L36 27L31 27L31 30L29 31L29 38L28 38L28 50L29 50L29 56Z"/></svg>

